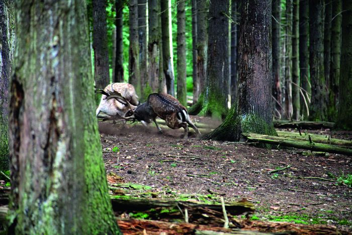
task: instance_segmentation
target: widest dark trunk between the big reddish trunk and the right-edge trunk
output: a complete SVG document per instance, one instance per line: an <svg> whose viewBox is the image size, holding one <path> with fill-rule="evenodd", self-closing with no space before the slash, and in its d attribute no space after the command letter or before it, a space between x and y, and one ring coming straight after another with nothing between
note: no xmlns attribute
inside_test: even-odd
<svg viewBox="0 0 352 235"><path fill-rule="evenodd" d="M326 121L324 77L324 0L309 1L309 65L312 98L309 120Z"/></svg>

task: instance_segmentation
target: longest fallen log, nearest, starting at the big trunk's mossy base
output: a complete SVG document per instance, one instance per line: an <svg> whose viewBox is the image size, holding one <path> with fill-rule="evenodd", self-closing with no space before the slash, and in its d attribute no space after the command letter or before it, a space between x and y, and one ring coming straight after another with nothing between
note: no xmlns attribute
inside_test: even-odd
<svg viewBox="0 0 352 235"><path fill-rule="evenodd" d="M314 141L287 139L285 137L269 136L256 133L242 133L242 135L252 142L261 142L273 145L282 145L287 147L303 148L312 151L322 151L352 156L352 149L343 148L336 145L315 143Z"/></svg>

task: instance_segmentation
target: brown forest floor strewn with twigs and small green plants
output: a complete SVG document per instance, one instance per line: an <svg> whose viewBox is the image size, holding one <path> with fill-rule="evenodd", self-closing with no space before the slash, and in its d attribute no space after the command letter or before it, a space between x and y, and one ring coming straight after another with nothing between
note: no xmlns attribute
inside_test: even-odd
<svg viewBox="0 0 352 235"><path fill-rule="evenodd" d="M352 232L352 188L336 181L352 174L350 156L202 140L191 131L182 139L183 129L162 129L161 135L154 124L99 123L109 185L122 187L111 193L202 202L223 196L225 203L246 198L255 206L252 220L331 224ZM352 139L352 132L307 131Z"/></svg>

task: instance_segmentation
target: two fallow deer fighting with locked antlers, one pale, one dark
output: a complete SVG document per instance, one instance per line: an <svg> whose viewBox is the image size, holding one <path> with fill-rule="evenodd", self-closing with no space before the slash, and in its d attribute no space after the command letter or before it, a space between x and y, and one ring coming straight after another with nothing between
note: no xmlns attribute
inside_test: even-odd
<svg viewBox="0 0 352 235"><path fill-rule="evenodd" d="M148 96L146 102L138 105L138 97L134 87L126 83L114 83L100 90L103 94L98 114L103 111L112 118L117 117L124 120L138 120L143 125L154 121L156 128L161 132L161 128L156 122L159 117L165 120L165 123L171 129L185 129L184 138L188 137L188 125L190 125L197 134L201 134L198 128L193 124L188 115L187 109L174 97L163 93L152 93ZM114 99L114 104L110 101ZM116 107L116 108L115 108ZM115 109L114 109L115 108Z"/></svg>

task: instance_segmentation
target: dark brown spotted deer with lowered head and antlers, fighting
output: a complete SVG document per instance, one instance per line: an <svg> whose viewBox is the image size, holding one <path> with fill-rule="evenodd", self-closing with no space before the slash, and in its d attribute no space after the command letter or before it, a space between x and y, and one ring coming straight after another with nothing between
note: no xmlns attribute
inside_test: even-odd
<svg viewBox="0 0 352 235"><path fill-rule="evenodd" d="M125 105L129 105L133 115L129 117L123 117L126 120L138 120L143 125L154 121L158 131L161 133L161 128L156 122L156 117L165 120L165 123L171 129L179 129L183 127L185 129L184 138L188 137L188 125L190 125L197 134L201 134L198 128L193 124L188 115L187 109L174 97L163 93L152 93L148 96L148 99L143 104L133 109L129 102L124 99L118 92L107 92L107 100L117 99L120 102L124 102Z"/></svg>

